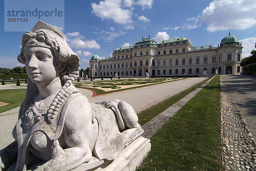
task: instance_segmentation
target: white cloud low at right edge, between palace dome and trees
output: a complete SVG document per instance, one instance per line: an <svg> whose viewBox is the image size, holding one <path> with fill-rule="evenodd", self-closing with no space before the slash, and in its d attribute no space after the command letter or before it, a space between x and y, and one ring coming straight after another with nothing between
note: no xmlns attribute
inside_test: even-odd
<svg viewBox="0 0 256 171"><path fill-rule="evenodd" d="M239 41L242 42L243 46L242 58L248 57L250 52L255 49L256 37L245 38Z"/></svg>

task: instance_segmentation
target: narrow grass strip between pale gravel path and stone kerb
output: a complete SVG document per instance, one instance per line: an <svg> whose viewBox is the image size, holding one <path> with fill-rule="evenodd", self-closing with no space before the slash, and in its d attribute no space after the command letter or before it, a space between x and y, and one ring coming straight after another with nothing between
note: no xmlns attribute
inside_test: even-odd
<svg viewBox="0 0 256 171"><path fill-rule="evenodd" d="M168 109L170 106L175 104L177 101L200 87L202 84L204 84L206 81L208 81L210 78L205 79L204 81L201 81L198 84L195 84L192 87L189 87L188 89L184 90L183 92L180 92L176 94L175 96L170 97L169 99L166 99L157 105L154 105L146 110L143 110L141 113L138 113L137 116L139 118L140 125L144 125L160 113L162 113L164 110Z"/></svg>

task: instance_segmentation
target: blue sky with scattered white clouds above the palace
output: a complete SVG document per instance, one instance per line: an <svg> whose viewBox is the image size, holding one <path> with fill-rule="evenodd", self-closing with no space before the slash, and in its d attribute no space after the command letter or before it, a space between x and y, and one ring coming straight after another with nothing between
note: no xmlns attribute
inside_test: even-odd
<svg viewBox="0 0 256 171"><path fill-rule="evenodd" d="M231 35L242 41L242 58L250 54L256 42L255 0L65 0L63 3L64 23L54 19L50 24L67 35L67 42L79 55L83 69L89 67L95 52L108 57L112 50L148 35L157 42L181 36L188 38L193 46L218 46L230 29ZM58 7L58 3L52 4ZM33 9L34 5L30 3L29 7ZM0 67L23 67L17 55L25 31L4 32L4 0L0 1L0 12ZM32 26L27 31L31 29Z"/></svg>

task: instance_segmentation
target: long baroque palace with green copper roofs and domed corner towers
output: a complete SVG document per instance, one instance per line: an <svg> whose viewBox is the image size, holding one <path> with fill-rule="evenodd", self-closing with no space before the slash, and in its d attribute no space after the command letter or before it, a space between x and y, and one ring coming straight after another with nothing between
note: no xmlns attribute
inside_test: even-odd
<svg viewBox="0 0 256 171"><path fill-rule="evenodd" d="M218 47L192 46L189 39L174 38L160 42L143 38L130 46L113 51L113 57L90 59L90 76L173 76L240 74L242 45L238 38L229 35Z"/></svg>

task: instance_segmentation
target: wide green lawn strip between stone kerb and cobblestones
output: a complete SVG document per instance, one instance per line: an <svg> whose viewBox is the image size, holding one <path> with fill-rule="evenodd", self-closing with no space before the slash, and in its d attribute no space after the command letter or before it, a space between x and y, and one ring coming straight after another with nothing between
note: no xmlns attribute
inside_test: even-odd
<svg viewBox="0 0 256 171"><path fill-rule="evenodd" d="M151 137L140 171L219 171L220 76L185 104Z"/></svg>

